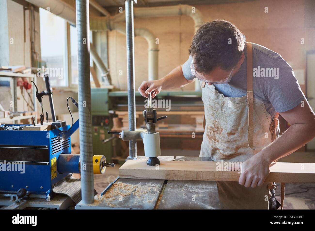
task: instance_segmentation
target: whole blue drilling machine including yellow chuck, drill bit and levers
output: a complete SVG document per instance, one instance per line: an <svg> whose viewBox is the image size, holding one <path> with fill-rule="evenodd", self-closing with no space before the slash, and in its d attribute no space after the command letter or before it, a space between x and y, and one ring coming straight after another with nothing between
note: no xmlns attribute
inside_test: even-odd
<svg viewBox="0 0 315 231"><path fill-rule="evenodd" d="M72 117L71 126L66 125L65 121L56 121L48 75L45 75L45 82L47 92L38 93L35 83L34 86L36 87L36 97L42 107L42 113L44 113L42 97L49 97L51 116L54 122L47 122L48 113L46 112L46 123L48 125L44 126L46 130L42 131L41 128L34 130L36 125L33 118L33 124L29 125L0 124L0 197L10 197L10 201L2 201L0 206L11 206L14 202L14 195L17 198L14 208L17 209L27 206L26 202L22 200L24 197L24 199L46 198L49 199L47 201L50 201L55 195L54 186L66 182L67 186L65 188L70 192L72 185L77 185L77 181L69 180L70 173L81 172L80 155L71 154L70 136L78 129L79 120L73 123L68 99L71 99L77 108L78 102L71 96L66 100ZM37 126L45 124L43 114L41 114L40 120L41 124L37 124ZM26 128L25 126L30 127ZM106 166L113 167L115 164L106 163L106 158L103 155L93 156L93 173L103 174ZM75 193L80 192L81 188L75 186L74 191ZM65 190L59 193L68 195ZM71 199L75 201L77 197L71 197ZM60 201L57 202L58 208L68 204L67 199L64 199L62 205L59 205ZM43 203L38 204L38 207L42 206ZM45 206L56 208L54 203Z"/></svg>

